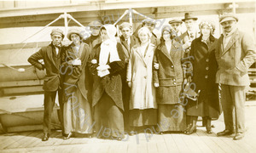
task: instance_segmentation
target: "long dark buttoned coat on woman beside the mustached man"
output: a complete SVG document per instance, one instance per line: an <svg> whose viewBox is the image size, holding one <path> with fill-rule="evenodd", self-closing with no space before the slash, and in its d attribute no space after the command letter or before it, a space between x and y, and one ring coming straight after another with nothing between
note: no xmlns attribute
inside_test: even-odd
<svg viewBox="0 0 256 153"><path fill-rule="evenodd" d="M215 59L215 37L210 37L210 42L201 41L201 37L196 38L191 44L189 55L193 58L192 82L195 83L195 92L201 90L198 102L189 100L187 105L187 115L189 116L209 116L217 119L221 113L218 99L218 84L215 83L217 72L217 62Z"/></svg>

